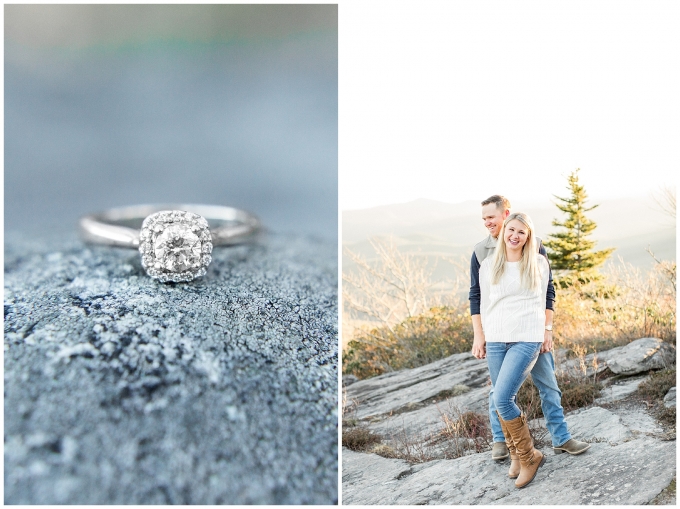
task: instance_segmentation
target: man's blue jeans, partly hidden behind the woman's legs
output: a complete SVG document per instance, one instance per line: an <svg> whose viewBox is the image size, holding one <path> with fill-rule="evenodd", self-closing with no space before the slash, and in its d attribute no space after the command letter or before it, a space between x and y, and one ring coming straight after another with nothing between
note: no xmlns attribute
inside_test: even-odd
<svg viewBox="0 0 680 509"><path fill-rule="evenodd" d="M487 358L489 357L489 345L487 343ZM497 343L504 344L504 343ZM491 368L489 368L491 369ZM538 388L538 393L541 396L541 408L543 409L543 416L545 417L545 425L550 432L553 447L559 447L571 439L571 434L567 430L567 423L564 420L564 410L562 409L562 391L557 386L557 379L555 378L555 361L552 353L546 352L538 356L536 364L531 369L531 378L534 385ZM492 377L493 383L493 377ZM494 403L494 388L489 392L489 418L491 420L491 432L493 433L494 442L504 442L503 430L501 423L498 421L496 414L496 405Z"/></svg>

